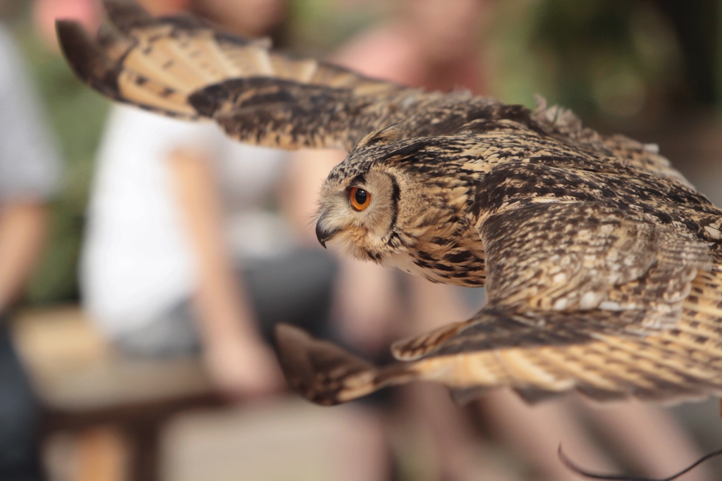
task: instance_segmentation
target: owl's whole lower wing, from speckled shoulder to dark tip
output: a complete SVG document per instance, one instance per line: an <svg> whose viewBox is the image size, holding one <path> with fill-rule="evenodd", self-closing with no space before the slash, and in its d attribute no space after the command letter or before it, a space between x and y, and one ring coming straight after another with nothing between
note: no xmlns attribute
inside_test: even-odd
<svg viewBox="0 0 722 481"><path fill-rule="evenodd" d="M570 389L661 402L722 392L722 272L705 244L596 203L495 213L479 231L482 311L396 343L402 362L381 369L310 337L290 343L285 328L291 383L322 404L412 379L462 401L500 386L529 402Z"/></svg>

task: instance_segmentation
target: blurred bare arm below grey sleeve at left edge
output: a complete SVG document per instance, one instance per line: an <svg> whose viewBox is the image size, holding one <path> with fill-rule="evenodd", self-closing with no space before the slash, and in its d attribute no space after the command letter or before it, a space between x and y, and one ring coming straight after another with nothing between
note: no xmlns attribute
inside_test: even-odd
<svg viewBox="0 0 722 481"><path fill-rule="evenodd" d="M32 272L43 247L47 219L40 201L0 204L0 312L17 299Z"/></svg>

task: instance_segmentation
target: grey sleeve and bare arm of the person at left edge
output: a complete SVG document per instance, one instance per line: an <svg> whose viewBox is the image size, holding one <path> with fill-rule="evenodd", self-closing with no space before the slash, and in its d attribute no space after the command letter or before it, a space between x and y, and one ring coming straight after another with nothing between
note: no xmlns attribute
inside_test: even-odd
<svg viewBox="0 0 722 481"><path fill-rule="evenodd" d="M58 191L60 159L11 33L0 25L0 312L25 286Z"/></svg>

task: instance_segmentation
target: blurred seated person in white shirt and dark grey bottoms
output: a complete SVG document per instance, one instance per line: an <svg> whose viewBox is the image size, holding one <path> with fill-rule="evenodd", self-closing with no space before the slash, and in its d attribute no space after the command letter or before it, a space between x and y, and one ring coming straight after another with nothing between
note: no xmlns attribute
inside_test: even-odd
<svg viewBox="0 0 722 481"><path fill-rule="evenodd" d="M285 8L282 0L139 3L153 14L188 8L248 36L272 32ZM216 125L116 105L97 162L81 284L103 332L137 355L202 345L228 394L279 389L264 335L278 321L318 332L335 271L323 252L297 250L274 206L283 154L230 141Z"/></svg>

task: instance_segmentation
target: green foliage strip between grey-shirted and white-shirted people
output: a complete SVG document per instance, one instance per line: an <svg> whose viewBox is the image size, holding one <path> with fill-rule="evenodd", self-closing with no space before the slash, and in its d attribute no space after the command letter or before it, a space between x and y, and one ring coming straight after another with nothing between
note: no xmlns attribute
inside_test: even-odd
<svg viewBox="0 0 722 481"><path fill-rule="evenodd" d="M84 213L108 102L79 82L58 54L45 48L29 22L14 30L65 162L64 182L51 204L48 243L30 282L27 301L69 301L78 296L77 260Z"/></svg>

